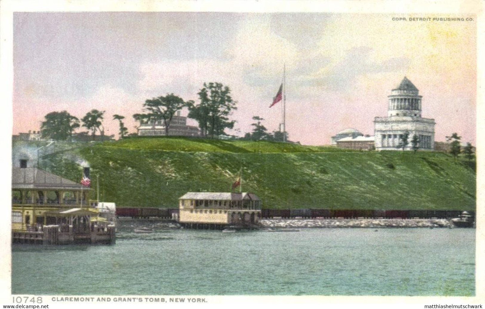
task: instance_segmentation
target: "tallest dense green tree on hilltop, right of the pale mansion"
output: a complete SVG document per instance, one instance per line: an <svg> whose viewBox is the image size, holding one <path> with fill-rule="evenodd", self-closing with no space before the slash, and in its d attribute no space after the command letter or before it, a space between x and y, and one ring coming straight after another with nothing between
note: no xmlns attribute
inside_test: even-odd
<svg viewBox="0 0 485 309"><path fill-rule="evenodd" d="M237 109L236 102L230 96L231 90L221 83L204 83L199 93L199 105L191 104L189 118L198 121L201 134L211 138L226 135L226 128L232 129L235 121L229 121L233 109Z"/></svg>

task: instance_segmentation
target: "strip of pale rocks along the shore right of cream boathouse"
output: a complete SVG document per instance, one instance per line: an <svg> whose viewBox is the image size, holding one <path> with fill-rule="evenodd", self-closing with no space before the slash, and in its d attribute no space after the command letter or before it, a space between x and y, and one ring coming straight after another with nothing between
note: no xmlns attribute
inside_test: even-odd
<svg viewBox="0 0 485 309"><path fill-rule="evenodd" d="M447 219L261 219L262 228L453 228Z"/></svg>

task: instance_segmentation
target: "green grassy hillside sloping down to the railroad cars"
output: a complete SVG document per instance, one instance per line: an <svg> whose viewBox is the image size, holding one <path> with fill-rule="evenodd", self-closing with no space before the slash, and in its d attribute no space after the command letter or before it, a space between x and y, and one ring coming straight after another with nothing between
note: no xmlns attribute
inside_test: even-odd
<svg viewBox="0 0 485 309"><path fill-rule="evenodd" d="M241 168L242 190L268 208L474 210L476 203L474 170L443 153L185 138L55 147L43 169L79 181L85 160L93 188L99 176L100 200L118 206L177 207L187 191L229 191Z"/></svg>

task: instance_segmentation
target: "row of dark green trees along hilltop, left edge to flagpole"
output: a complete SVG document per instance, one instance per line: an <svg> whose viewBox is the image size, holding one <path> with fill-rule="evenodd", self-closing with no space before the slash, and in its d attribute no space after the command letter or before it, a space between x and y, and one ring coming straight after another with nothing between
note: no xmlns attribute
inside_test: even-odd
<svg viewBox="0 0 485 309"><path fill-rule="evenodd" d="M143 104L143 113L134 114L133 119L138 121L140 125L162 124L165 135L168 136L173 117L182 108L188 108L188 118L198 122L202 137L214 139L220 136L227 136L225 130L234 128L236 123L235 120L230 120L229 116L233 110L237 109L237 102L231 97L230 88L218 82L204 83L203 88L200 89L197 95L199 97L198 104L195 104L192 100L185 101L174 93L146 99ZM82 122L82 126L86 127L88 132L91 133L92 140L95 140L97 132L104 132L102 122L105 112L104 110L93 109L86 113L81 121L65 110L50 112L45 116L41 124L42 138L72 141L73 132L81 127ZM122 115L113 115L113 120L119 122L119 138L123 139L128 135L136 135L136 133L128 133L128 128L125 126L123 119L125 117ZM246 133L242 139L284 140L283 132L268 132L266 127L261 124L261 121L264 119L254 116L253 120L257 120L257 123L252 124L254 127L253 131ZM287 135L286 132L285 134Z"/></svg>

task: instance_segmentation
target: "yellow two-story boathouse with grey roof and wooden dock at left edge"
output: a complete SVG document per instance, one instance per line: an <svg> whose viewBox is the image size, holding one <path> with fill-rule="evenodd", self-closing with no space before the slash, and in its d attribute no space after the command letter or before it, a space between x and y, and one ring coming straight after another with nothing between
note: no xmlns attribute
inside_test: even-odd
<svg viewBox="0 0 485 309"><path fill-rule="evenodd" d="M93 189L25 166L12 169L12 242L114 243L114 225L89 199Z"/></svg>

